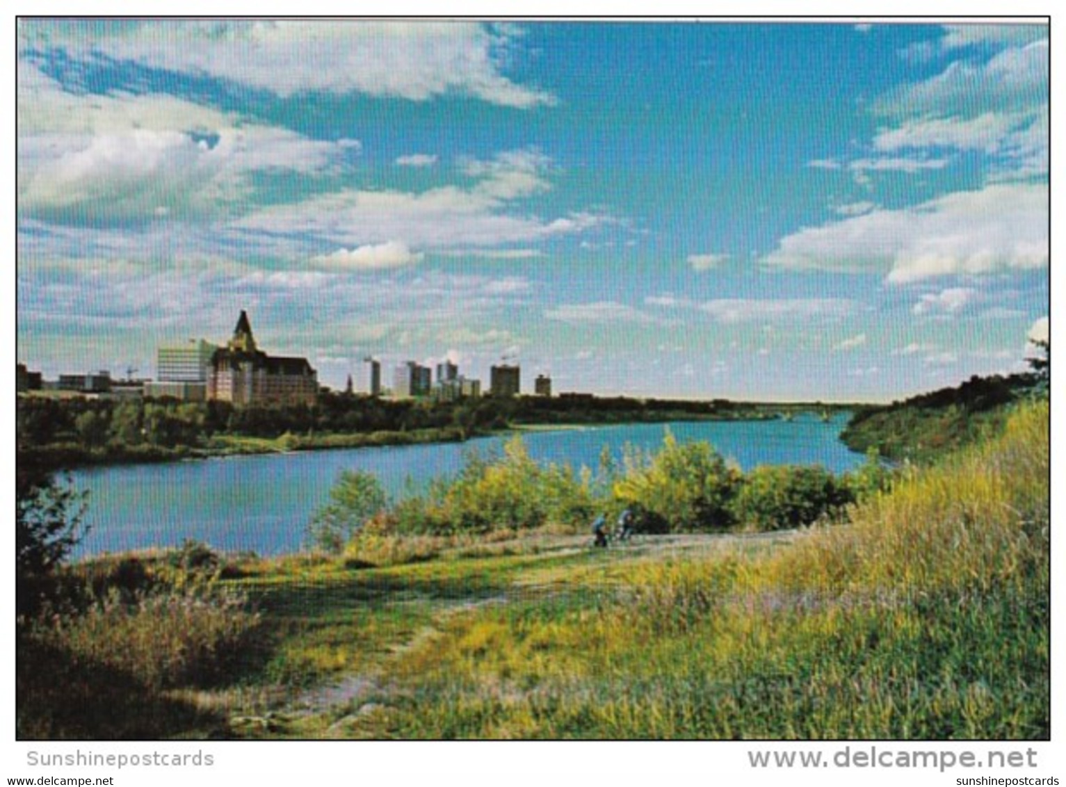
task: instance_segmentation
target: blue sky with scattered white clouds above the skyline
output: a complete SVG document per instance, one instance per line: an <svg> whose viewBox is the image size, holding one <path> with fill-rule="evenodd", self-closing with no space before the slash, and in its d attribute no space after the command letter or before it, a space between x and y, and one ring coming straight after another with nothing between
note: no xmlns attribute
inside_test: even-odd
<svg viewBox="0 0 1066 787"><path fill-rule="evenodd" d="M1048 315L1037 25L23 20L18 356L889 400Z"/></svg>

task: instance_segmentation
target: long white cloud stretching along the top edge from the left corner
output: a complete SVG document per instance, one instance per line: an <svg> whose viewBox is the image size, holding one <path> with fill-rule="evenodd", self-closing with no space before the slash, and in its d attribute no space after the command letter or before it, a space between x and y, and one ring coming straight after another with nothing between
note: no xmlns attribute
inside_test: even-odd
<svg viewBox="0 0 1066 787"><path fill-rule="evenodd" d="M461 21L151 20L127 25L33 21L23 48L98 54L291 96L361 93L424 101L461 94L527 109L550 94L517 84L500 65L521 36L514 26Z"/></svg>

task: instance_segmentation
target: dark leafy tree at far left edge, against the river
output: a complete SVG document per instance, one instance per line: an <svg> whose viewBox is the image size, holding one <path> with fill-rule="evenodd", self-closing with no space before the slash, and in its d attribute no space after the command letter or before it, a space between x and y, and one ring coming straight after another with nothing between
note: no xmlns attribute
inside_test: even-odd
<svg viewBox="0 0 1066 787"><path fill-rule="evenodd" d="M69 480L19 468L16 473L15 553L20 577L50 573L85 535L87 493Z"/></svg>

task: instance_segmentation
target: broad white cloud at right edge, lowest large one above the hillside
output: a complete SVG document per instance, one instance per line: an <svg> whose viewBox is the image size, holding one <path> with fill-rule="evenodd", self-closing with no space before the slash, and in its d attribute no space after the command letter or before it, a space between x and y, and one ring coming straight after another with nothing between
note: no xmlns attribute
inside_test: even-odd
<svg viewBox="0 0 1066 787"><path fill-rule="evenodd" d="M887 272L904 284L1048 264L1048 190L995 184L878 210L781 239L762 261L797 270Z"/></svg>

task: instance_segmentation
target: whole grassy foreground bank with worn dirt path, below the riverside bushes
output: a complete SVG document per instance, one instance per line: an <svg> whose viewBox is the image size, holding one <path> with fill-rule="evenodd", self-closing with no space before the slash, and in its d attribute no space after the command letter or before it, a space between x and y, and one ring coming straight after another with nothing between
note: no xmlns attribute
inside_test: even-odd
<svg viewBox="0 0 1066 787"><path fill-rule="evenodd" d="M217 582L254 636L224 674L152 688L150 724L122 697L109 719L102 689L70 719L20 657L20 735L1046 739L1048 416L1018 408L801 531L595 550L544 529L423 540L375 566L240 561ZM74 662L83 682L96 669Z"/></svg>

